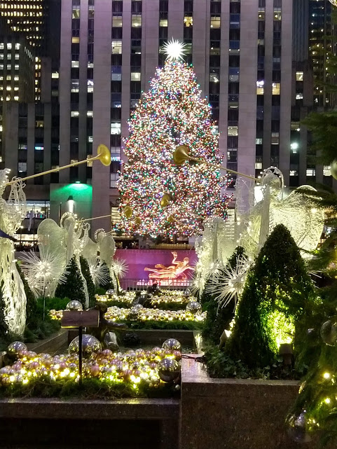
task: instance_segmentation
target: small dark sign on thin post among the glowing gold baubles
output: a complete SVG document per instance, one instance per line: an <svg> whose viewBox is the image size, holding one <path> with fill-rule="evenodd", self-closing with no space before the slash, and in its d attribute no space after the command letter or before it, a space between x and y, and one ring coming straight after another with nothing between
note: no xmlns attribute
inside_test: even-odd
<svg viewBox="0 0 337 449"><path fill-rule="evenodd" d="M82 359L83 359L83 327L99 326L99 310L64 310L61 327L64 329L73 329L78 327L78 374L79 385L82 385Z"/></svg>

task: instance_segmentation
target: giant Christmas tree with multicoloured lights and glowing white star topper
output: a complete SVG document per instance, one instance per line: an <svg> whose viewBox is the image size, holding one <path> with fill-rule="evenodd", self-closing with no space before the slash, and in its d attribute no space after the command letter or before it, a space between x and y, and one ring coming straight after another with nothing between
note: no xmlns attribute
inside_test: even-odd
<svg viewBox="0 0 337 449"><path fill-rule="evenodd" d="M167 60L150 81L140 100L125 143L121 226L127 233L156 237L189 236L202 229L210 215L226 217L226 177L205 164L172 158L177 146L189 148L194 158L221 164L218 136L210 106L202 98L193 68L180 59L184 46L166 45Z"/></svg>

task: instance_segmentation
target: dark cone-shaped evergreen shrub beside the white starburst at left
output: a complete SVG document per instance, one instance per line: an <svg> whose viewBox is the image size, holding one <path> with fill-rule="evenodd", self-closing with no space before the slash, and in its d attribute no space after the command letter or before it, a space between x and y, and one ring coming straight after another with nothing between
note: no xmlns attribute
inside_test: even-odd
<svg viewBox="0 0 337 449"><path fill-rule="evenodd" d="M69 298L69 301L80 301L85 308L85 289L75 257L71 258L67 266L67 272L67 281L64 284L58 284L55 296L57 298Z"/></svg>

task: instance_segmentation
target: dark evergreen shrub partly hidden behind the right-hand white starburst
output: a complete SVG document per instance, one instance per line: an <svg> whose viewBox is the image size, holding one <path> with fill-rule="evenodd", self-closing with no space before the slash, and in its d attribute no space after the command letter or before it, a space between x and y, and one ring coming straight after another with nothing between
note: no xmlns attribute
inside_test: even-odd
<svg viewBox="0 0 337 449"><path fill-rule="evenodd" d="M240 256L245 255L245 249L242 247L237 247L227 261L227 268L235 268L237 259ZM202 331L202 336L209 340L210 343L214 345L219 345L219 340L224 329L228 329L229 324L234 316L234 308L232 305L227 307L219 308L219 303L216 301L216 296L207 293L207 285L210 280L207 281L206 288L202 293L201 303L203 309L207 310L207 318L205 320L205 325Z"/></svg>

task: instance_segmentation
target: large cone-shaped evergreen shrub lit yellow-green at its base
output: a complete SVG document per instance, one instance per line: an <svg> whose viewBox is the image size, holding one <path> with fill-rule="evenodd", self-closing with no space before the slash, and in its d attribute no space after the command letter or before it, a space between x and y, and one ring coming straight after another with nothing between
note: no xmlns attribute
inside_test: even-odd
<svg viewBox="0 0 337 449"><path fill-rule="evenodd" d="M300 352L301 321L305 312L312 315L313 293L294 239L285 226L276 226L248 273L225 353L249 368L263 368L293 338L294 352Z"/></svg>

